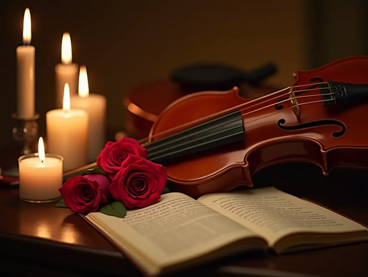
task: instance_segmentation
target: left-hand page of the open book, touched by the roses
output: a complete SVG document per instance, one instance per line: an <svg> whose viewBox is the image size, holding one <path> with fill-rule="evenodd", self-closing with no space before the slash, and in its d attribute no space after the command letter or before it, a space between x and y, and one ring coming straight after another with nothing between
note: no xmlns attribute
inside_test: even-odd
<svg viewBox="0 0 368 277"><path fill-rule="evenodd" d="M86 217L157 264L206 253L240 238L257 237L236 221L175 192L162 195L155 205L128 210L124 219L102 213ZM126 245L121 246L129 251Z"/></svg>

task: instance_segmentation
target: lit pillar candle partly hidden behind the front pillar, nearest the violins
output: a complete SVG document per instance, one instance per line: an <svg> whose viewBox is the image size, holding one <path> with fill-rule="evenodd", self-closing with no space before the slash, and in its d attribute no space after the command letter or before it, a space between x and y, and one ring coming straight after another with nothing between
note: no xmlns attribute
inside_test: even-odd
<svg viewBox="0 0 368 277"><path fill-rule="evenodd" d="M103 95L89 93L87 69L79 70L78 95L70 96L72 109L82 109L88 113L88 162L96 161L105 147L106 98Z"/></svg>

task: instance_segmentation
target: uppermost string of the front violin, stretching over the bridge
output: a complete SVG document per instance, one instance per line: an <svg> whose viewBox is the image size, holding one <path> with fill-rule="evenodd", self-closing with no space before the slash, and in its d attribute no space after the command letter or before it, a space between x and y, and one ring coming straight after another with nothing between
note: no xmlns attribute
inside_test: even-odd
<svg viewBox="0 0 368 277"><path fill-rule="evenodd" d="M258 97L258 98L256 98L256 99L253 99L253 100L248 101L248 102L246 102L246 103L239 104L239 105L237 105L237 106L230 107L229 109L225 109L225 110L219 111L219 112L217 112L217 113L213 113L213 114L210 114L210 115L208 115L208 116L205 116L205 117L202 117L202 118L198 118L198 119L196 119L196 120L193 120L193 121L187 122L187 123L185 123L185 124L181 124L181 125L179 125L179 126L176 126L176 127L173 127L173 128L167 129L167 130L165 130L165 131L159 132L159 133L157 133L157 134L153 134L151 137L147 137L147 138L140 139L138 142L139 142L139 143L141 143L141 145L142 145L142 146L146 146L146 145L148 145L148 144L155 143L155 141L154 141L154 142L148 142L148 140L149 140L150 138L152 139L152 138L154 138L154 137L156 137L156 136L166 134L166 133L168 133L168 132L171 132L171 131L174 131L174 130L176 130L176 129L179 129L179 128L182 128L182 127L188 126L188 125L190 125L190 124L194 124L194 123L197 123L197 122L199 122L199 121L206 120L206 119L208 119L208 118L211 118L211 117L214 117L214 116L217 116L217 115L220 115L220 114L226 113L227 111L231 111L231 110L237 109L237 108L239 108L239 107L246 106L246 105L248 105L248 104L251 104L251 103L253 103L253 102L256 102L257 100L260 100L260 99L263 99L263 98L266 98L266 97L269 97L269 96L275 95L276 93L282 92L283 90L287 90L287 89L291 89L291 88L297 88L297 87L302 87L302 86L309 86L309 85L322 85L322 84L328 84L328 82L310 83L310 84L305 84L305 85L289 86L289 87L287 87L287 88L284 88L284 89L281 89L281 90L277 90L277 91L275 91L275 92L273 92L273 93L270 93L270 94L268 94L268 95L264 95L264 96ZM326 88L323 88L323 89L328 89L328 88L330 88L330 87L326 87ZM308 90L316 90L316 89L320 89L320 88L312 88L312 89L308 89ZM296 93L296 92L302 92L302 91L307 91L307 90L295 90L295 91L293 91L293 92L294 92L294 93ZM291 92L287 92L287 93L286 93L286 94L284 94L284 95L287 95L287 94L290 94L290 93L291 93ZM283 96L283 95L281 95L281 96ZM277 96L277 97L280 97L280 95L279 95L279 96ZM276 98L277 98L277 97L276 97ZM275 97L274 97L274 98L272 98L272 99L268 99L267 101L270 101L270 100L273 100L273 99L275 99ZM276 103L276 104L277 104L277 103ZM147 142L146 142L146 143L144 143L145 141L147 141ZM156 141L156 142L157 142L157 141ZM142 144L142 143L143 143L143 144Z"/></svg>

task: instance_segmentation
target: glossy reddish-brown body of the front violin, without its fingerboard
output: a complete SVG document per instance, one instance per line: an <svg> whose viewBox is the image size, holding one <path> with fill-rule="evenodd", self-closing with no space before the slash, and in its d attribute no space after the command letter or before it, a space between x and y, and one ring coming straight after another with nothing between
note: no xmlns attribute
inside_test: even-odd
<svg viewBox="0 0 368 277"><path fill-rule="evenodd" d="M368 56L344 58L293 76L296 81L289 88L252 101L234 87L192 93L167 106L153 123L149 143L231 112L237 113L241 125L231 128L243 128L244 136L164 164L170 188L198 198L238 186L252 187L252 176L262 168L290 162L315 164L324 175L337 167L367 169L368 101L336 103L339 84L328 81L368 84ZM193 138L175 143L190 143Z"/></svg>

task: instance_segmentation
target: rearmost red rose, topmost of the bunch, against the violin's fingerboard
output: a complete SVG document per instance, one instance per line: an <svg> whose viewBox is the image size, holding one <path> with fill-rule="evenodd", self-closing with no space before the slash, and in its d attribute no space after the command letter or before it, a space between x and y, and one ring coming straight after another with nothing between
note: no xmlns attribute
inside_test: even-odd
<svg viewBox="0 0 368 277"><path fill-rule="evenodd" d="M120 170L121 163L129 154L147 158L147 149L132 138L121 138L116 142L109 141L97 157L97 165L102 168L111 179Z"/></svg>

